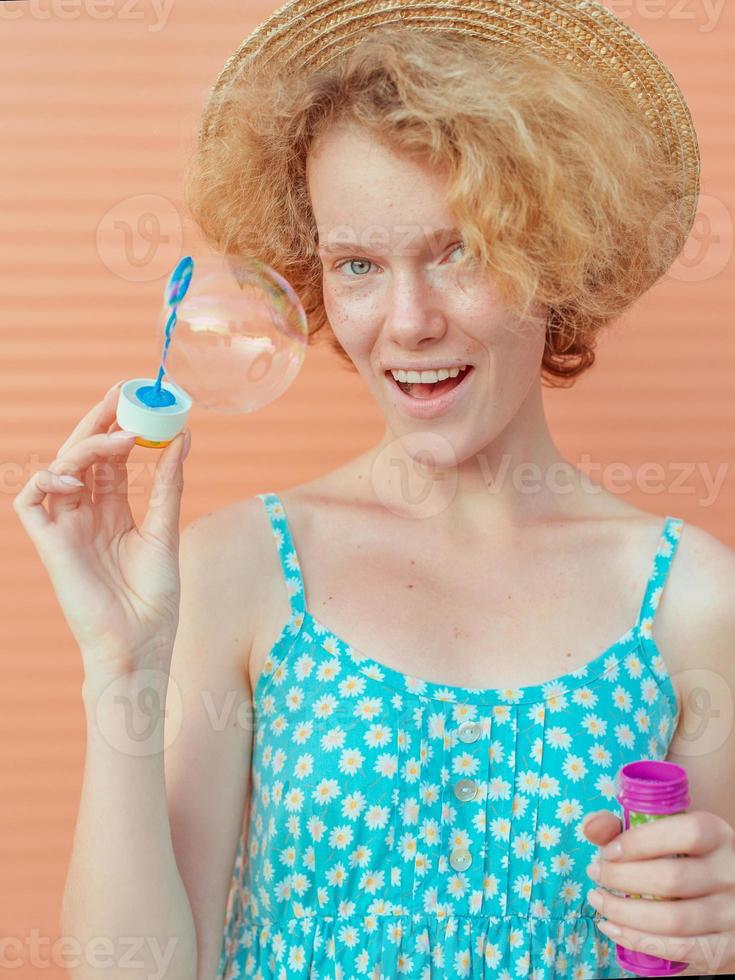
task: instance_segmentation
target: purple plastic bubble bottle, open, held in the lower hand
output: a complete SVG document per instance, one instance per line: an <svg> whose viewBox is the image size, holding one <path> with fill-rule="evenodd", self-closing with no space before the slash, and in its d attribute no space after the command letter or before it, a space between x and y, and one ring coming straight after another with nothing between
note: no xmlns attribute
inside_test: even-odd
<svg viewBox="0 0 735 980"><path fill-rule="evenodd" d="M624 830L674 813L684 813L691 802L686 769L675 762L657 759L629 762L618 772L618 789L616 799L623 808ZM630 898L661 901L660 895L631 895ZM642 977L670 977L689 965L650 956L619 943L615 944L615 957L623 969Z"/></svg>

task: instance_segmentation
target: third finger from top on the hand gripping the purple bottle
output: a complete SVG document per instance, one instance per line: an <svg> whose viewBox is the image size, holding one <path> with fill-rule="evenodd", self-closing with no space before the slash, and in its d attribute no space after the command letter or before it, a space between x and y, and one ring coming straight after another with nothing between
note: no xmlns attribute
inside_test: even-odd
<svg viewBox="0 0 735 980"><path fill-rule="evenodd" d="M603 888L597 890L597 896L588 893L587 900L600 915L612 919L615 925L631 926L657 936L699 936L732 927L732 904L722 892L680 901L657 901L613 895Z"/></svg>

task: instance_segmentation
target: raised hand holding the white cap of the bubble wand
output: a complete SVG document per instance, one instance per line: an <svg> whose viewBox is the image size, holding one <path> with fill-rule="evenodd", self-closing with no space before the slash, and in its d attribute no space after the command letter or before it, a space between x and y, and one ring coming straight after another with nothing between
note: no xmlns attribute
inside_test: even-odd
<svg viewBox="0 0 735 980"><path fill-rule="evenodd" d="M115 385L13 501L80 647L85 680L140 666L168 669L178 626L184 434L156 450L148 512L138 528L126 465L134 438L114 437L121 431L118 397ZM83 485L67 486L59 474Z"/></svg>

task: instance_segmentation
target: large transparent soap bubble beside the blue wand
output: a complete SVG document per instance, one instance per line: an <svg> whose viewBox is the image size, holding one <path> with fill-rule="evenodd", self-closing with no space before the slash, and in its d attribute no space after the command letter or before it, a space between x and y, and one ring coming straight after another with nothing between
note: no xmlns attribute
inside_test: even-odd
<svg viewBox="0 0 735 980"><path fill-rule="evenodd" d="M165 298L172 298L170 283ZM160 315L165 338L171 307ZM164 354L166 377L202 408L253 412L294 381L306 355L306 314L291 285L256 258L194 259Z"/></svg>

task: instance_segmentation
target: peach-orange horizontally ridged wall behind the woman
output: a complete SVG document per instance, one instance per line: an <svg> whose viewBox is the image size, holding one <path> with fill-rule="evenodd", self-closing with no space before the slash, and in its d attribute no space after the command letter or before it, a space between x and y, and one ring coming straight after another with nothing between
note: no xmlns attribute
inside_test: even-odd
<svg viewBox="0 0 735 980"><path fill-rule="evenodd" d="M18 943L5 949L8 965L23 964L15 977L65 975L48 966L48 942L33 966L29 941L34 930L58 937L84 719L77 650L12 498L109 385L154 369L164 277L192 241L180 183L198 113L227 55L275 6L0 8L0 932ZM587 454L608 488L735 546L735 5L719 14L698 0L610 6L685 92L703 158L700 215L682 259L603 341L592 372L547 394L551 428L567 458ZM331 469L382 425L362 383L320 342L276 404L235 417L195 408L191 429L184 523ZM131 460L154 452L136 447ZM131 484L139 513L145 471L131 471Z"/></svg>

